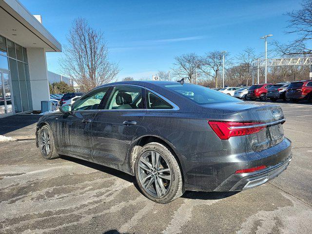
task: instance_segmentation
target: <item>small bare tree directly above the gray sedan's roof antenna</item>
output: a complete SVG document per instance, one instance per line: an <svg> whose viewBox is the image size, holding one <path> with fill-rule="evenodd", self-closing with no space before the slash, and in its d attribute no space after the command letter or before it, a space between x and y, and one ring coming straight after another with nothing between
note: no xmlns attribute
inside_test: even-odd
<svg viewBox="0 0 312 234"><path fill-rule="evenodd" d="M187 78L190 83L193 82L196 76L196 61L198 56L195 53L184 54L175 57L176 62L172 68L173 76L180 78Z"/></svg>

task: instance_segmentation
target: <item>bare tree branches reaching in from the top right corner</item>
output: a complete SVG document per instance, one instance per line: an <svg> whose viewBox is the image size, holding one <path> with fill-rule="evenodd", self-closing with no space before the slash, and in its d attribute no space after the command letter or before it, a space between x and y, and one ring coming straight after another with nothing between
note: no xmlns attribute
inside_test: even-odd
<svg viewBox="0 0 312 234"><path fill-rule="evenodd" d="M296 33L299 38L287 44L273 41L275 50L282 55L298 55L298 54L312 54L311 45L312 40L312 0L303 0L301 9L298 11L288 12L291 19L287 34Z"/></svg>

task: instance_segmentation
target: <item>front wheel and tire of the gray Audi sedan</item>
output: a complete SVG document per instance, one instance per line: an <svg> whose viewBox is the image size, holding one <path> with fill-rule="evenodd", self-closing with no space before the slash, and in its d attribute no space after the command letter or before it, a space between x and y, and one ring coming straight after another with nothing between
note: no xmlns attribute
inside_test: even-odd
<svg viewBox="0 0 312 234"><path fill-rule="evenodd" d="M51 129L43 125L38 132L38 146L41 155L45 159L55 159L59 157L54 145L54 138Z"/></svg>

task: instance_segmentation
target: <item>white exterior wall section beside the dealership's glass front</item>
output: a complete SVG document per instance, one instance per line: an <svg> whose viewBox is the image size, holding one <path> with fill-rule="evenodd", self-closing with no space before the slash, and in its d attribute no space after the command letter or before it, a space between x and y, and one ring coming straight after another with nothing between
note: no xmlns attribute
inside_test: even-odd
<svg viewBox="0 0 312 234"><path fill-rule="evenodd" d="M27 48L33 109L41 109L41 101L50 99L47 62L43 48Z"/></svg>

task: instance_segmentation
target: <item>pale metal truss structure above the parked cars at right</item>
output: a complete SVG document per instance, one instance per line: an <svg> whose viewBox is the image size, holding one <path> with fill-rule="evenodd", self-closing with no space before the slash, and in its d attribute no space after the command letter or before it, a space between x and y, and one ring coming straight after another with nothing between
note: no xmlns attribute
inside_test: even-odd
<svg viewBox="0 0 312 234"><path fill-rule="evenodd" d="M277 58L267 59L267 66L310 66L310 78L312 77L312 57L298 58ZM253 66L253 84L254 84L254 69L257 69L257 83L259 83L259 69L265 67L265 59L257 59Z"/></svg>

